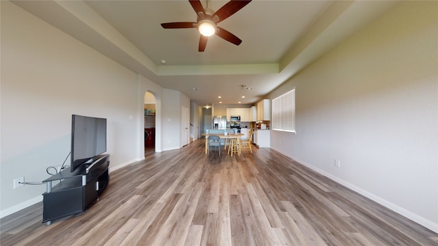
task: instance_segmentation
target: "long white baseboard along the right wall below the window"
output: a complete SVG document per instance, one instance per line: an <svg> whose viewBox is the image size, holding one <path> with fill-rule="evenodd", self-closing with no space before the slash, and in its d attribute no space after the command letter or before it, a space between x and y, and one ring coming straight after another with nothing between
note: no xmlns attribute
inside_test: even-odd
<svg viewBox="0 0 438 246"><path fill-rule="evenodd" d="M364 189L361 189L360 187L355 186L354 184L351 184L350 182L346 182L345 180L340 179L337 176L334 176L333 174L330 174L328 172L325 172L322 169L319 169L318 167L314 167L313 165L310 165L309 163L306 163L305 161L302 161L300 159L295 158L294 156L289 156L288 154L285 154L281 150L277 150L276 148L272 148L272 150L275 150L276 152L279 152L290 159L305 165L306 167L309 167L315 172L318 172L327 178L330 178L331 180L338 182L339 184L344 185L344 187L347 187L348 189L352 189L353 191L356 191L357 193L370 198L374 202L377 202L378 204L381 204L382 206L385 206L386 208L389 208L390 210L393 210L394 212L407 217L408 219L411 219L412 221L415 221L416 223L419 223L420 225L424 226L425 228L428 228L429 230L433 230L433 232L438 233L438 223L434 223L433 221L430 221L424 217L421 217L420 215L417 215L415 213L412 213L411 211L404 209L396 204L393 204L392 202L389 202L382 197L379 197L378 195L375 195L373 193L370 193L369 191L365 191Z"/></svg>

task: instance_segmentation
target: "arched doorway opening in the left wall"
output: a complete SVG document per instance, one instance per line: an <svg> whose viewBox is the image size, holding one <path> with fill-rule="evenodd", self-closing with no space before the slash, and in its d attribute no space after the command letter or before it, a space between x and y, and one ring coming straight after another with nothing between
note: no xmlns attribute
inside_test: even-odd
<svg viewBox="0 0 438 246"><path fill-rule="evenodd" d="M157 100L151 92L144 93L144 154L155 151L155 113Z"/></svg>

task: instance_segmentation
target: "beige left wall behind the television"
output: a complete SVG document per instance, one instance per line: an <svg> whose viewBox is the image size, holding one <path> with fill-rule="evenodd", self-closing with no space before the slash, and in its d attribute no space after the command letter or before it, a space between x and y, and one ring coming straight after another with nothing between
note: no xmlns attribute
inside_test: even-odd
<svg viewBox="0 0 438 246"><path fill-rule="evenodd" d="M138 158L138 76L1 1L1 210L40 200L40 182L70 152L71 115L107 118L110 167ZM69 160L69 159L68 159ZM68 165L68 161L66 165Z"/></svg>

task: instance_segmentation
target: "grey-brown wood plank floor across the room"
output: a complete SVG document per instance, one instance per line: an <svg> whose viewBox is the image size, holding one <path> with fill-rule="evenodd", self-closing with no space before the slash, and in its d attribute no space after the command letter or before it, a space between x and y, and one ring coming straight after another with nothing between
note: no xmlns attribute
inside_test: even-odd
<svg viewBox="0 0 438 246"><path fill-rule="evenodd" d="M7 245L438 245L438 235L270 149L204 154L204 141L111 172L82 215L42 204L1 219Z"/></svg>

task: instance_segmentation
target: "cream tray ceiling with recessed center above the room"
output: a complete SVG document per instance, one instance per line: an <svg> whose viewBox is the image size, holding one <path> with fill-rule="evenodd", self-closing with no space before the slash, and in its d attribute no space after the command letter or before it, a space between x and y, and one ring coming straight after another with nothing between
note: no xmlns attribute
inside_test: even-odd
<svg viewBox="0 0 438 246"><path fill-rule="evenodd" d="M253 0L218 24L242 44L212 36L200 53L196 29L160 25L196 22L196 13L185 0L13 2L201 106L257 102L398 3ZM225 3L208 1L208 7L216 11Z"/></svg>

